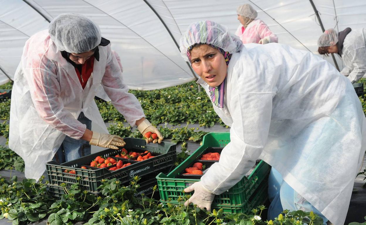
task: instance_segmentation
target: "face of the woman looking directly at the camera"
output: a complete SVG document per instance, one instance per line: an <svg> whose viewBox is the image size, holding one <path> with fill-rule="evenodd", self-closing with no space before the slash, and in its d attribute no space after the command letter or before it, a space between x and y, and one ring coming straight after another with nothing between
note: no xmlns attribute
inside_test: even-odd
<svg viewBox="0 0 366 225"><path fill-rule="evenodd" d="M193 70L211 87L219 86L226 77L227 65L218 49L201 44L191 50Z"/></svg>

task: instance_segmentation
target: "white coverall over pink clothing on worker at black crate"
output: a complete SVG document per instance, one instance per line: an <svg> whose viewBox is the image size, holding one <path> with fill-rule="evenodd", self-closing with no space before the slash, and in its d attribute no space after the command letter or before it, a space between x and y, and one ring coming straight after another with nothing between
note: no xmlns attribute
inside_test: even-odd
<svg viewBox="0 0 366 225"><path fill-rule="evenodd" d="M98 48L100 60L94 59L93 73L83 89L75 67L62 57L48 30L27 40L14 76L9 133L9 147L24 159L27 178L40 178L66 135L83 136L86 125L77 120L81 111L108 133L94 101L98 87L104 88L130 125L145 117L123 83L110 44Z"/></svg>

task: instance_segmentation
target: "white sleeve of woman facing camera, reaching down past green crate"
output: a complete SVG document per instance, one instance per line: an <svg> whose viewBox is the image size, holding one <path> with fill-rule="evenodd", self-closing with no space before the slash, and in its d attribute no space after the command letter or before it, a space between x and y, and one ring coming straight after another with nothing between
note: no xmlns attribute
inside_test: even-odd
<svg viewBox="0 0 366 225"><path fill-rule="evenodd" d="M261 154L269 132L274 92L239 93L230 100L236 105L231 112L234 123L230 143L202 176L206 189L221 194L234 186L254 165Z"/></svg>

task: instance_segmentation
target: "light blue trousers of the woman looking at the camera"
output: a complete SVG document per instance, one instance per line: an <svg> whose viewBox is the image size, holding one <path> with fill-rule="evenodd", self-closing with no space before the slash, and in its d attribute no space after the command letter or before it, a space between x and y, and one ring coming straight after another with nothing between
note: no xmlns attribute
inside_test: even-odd
<svg viewBox="0 0 366 225"><path fill-rule="evenodd" d="M268 208L268 220L274 220L284 209L288 209L290 211L313 211L323 219L325 225L328 221L319 210L315 209L304 197L292 189L273 167L268 178L268 198L271 202Z"/></svg>

